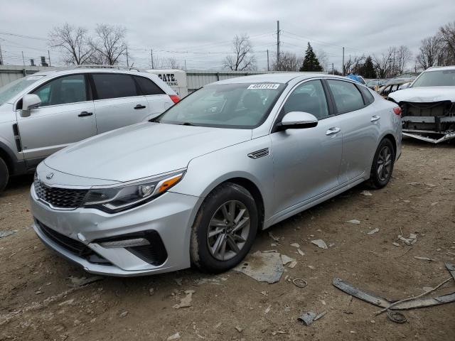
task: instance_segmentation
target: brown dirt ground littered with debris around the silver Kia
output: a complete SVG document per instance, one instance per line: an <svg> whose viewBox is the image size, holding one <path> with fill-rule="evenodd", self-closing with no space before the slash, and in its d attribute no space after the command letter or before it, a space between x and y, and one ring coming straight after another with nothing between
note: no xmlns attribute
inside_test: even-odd
<svg viewBox="0 0 455 341"><path fill-rule="evenodd" d="M455 340L455 303L404 311L408 322L397 324L331 284L339 277L400 299L449 278L453 144L407 140L386 188L365 196L360 185L260 233L252 251L276 249L298 260L274 284L234 271L208 276L188 269L70 288L70 276L91 275L45 248L30 228L31 181L16 178L0 195L0 231L16 230L0 239L0 340L167 340L177 332L181 340ZM353 219L360 224L346 223ZM379 232L367 234L375 228ZM269 231L284 237L276 247ZM417 242L395 246L400 233L417 234ZM319 249L312 239L335 245ZM297 288L285 276L304 278L308 286ZM191 307L173 308L188 290L194 291ZM449 281L436 294L453 291L455 281ZM326 315L302 325L297 318L309 310Z"/></svg>

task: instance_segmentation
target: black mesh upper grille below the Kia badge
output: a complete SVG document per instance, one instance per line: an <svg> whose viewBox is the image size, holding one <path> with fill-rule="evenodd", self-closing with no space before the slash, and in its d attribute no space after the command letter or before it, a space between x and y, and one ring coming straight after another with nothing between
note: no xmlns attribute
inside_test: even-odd
<svg viewBox="0 0 455 341"><path fill-rule="evenodd" d="M73 190L70 188L48 187L41 183L35 175L33 181L36 196L48 202L53 207L72 209L77 208L82 204L88 190Z"/></svg>

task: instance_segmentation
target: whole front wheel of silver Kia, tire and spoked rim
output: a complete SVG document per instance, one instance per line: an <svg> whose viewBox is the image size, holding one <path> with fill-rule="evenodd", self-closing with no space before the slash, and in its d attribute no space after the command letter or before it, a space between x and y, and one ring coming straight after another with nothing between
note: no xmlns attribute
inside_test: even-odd
<svg viewBox="0 0 455 341"><path fill-rule="evenodd" d="M231 216L234 219L225 219ZM205 197L196 215L191 230L191 264L211 274L232 269L250 251L257 227L257 206L252 195L240 185L223 183Z"/></svg>

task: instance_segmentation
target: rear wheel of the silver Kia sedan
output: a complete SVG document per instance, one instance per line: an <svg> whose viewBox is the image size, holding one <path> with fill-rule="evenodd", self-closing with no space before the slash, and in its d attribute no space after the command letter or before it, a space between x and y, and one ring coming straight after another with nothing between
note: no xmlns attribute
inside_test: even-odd
<svg viewBox="0 0 455 341"><path fill-rule="evenodd" d="M385 160L385 162L384 162ZM383 166L383 165L386 166ZM369 185L374 189L385 187L392 178L395 164L395 149L390 139L383 139L376 149L373 165L371 166Z"/></svg>

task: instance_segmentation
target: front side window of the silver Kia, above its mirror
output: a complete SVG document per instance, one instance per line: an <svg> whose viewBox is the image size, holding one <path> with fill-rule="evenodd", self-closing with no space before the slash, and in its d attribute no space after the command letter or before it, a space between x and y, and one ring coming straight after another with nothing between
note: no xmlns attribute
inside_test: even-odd
<svg viewBox="0 0 455 341"><path fill-rule="evenodd" d="M284 114L308 112L317 119L328 117L326 94L320 80L310 80L296 87L284 103Z"/></svg>

